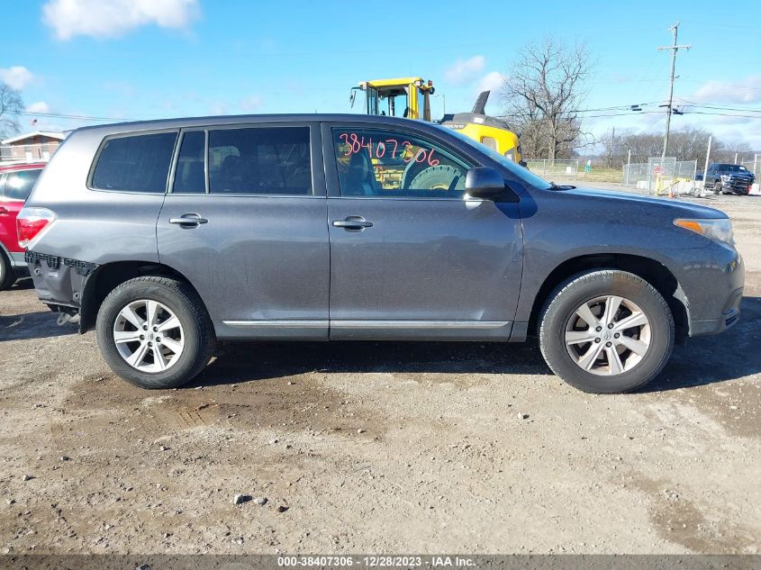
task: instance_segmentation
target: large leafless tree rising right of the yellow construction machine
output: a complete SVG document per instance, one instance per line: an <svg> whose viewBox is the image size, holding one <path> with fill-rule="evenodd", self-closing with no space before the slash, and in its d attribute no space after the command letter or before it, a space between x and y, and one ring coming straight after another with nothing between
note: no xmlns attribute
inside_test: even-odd
<svg viewBox="0 0 761 570"><path fill-rule="evenodd" d="M504 82L505 119L531 158L570 156L584 135L578 114L592 65L584 44L548 38L518 52Z"/></svg>

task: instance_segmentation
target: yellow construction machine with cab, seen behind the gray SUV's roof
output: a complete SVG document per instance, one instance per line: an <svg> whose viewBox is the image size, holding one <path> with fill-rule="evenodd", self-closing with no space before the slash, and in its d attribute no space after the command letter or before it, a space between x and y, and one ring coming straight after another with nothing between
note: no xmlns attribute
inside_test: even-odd
<svg viewBox="0 0 761 570"><path fill-rule="evenodd" d="M354 106L357 92L365 92L367 114L390 115L408 119L430 121L430 95L436 91L433 82L422 77L396 77L363 81L352 87L349 101ZM521 141L507 123L485 114L489 92L478 95L470 113L445 114L438 121L441 126L462 132L467 137L485 144L504 157L523 164Z"/></svg>

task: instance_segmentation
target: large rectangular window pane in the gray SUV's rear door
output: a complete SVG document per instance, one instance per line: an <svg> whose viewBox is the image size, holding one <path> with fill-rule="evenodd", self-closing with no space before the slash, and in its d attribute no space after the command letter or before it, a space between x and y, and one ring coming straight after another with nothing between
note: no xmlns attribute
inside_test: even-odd
<svg viewBox="0 0 761 570"><path fill-rule="evenodd" d="M209 192L312 195L309 128L209 131Z"/></svg>

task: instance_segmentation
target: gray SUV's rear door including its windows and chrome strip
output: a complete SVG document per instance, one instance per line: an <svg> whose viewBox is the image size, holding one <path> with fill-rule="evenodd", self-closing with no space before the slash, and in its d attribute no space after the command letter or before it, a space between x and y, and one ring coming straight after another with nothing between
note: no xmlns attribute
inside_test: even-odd
<svg viewBox="0 0 761 570"><path fill-rule="evenodd" d="M217 335L327 339L330 251L319 125L184 130L159 215L162 263Z"/></svg>

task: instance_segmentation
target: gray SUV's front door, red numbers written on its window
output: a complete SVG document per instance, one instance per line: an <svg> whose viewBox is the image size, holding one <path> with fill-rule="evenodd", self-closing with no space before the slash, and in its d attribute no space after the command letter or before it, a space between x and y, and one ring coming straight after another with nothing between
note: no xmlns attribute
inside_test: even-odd
<svg viewBox="0 0 761 570"><path fill-rule="evenodd" d="M476 159L446 134L322 126L331 339L507 339L521 285L517 204L469 199Z"/></svg>

